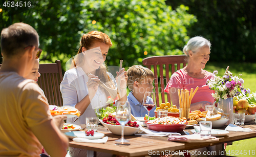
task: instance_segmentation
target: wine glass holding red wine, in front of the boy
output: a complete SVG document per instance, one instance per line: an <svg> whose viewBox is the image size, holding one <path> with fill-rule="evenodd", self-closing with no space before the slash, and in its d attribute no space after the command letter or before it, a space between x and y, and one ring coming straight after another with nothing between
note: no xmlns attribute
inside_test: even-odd
<svg viewBox="0 0 256 157"><path fill-rule="evenodd" d="M150 120L150 110L156 106L155 92L145 92L142 105L147 110L147 120Z"/></svg>

